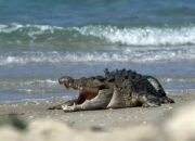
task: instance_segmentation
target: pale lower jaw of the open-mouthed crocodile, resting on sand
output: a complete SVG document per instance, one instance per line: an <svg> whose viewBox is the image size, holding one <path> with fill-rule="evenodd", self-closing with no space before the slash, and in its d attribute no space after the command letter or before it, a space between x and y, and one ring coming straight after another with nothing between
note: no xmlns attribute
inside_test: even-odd
<svg viewBox="0 0 195 141"><path fill-rule="evenodd" d="M109 89L99 90L95 98L91 100L86 100L82 104L74 105L62 105L64 112L75 112L75 111L87 111L87 110L103 110L106 108L113 95L113 91Z"/></svg>

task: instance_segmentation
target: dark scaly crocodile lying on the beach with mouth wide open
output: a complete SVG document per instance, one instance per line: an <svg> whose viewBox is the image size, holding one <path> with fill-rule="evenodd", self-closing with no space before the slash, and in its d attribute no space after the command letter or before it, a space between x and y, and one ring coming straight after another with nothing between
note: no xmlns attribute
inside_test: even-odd
<svg viewBox="0 0 195 141"><path fill-rule="evenodd" d="M104 70L104 76L74 79L63 76L58 79L65 88L79 90L77 99L49 107L76 112L122 107L155 107L174 103L167 97L160 82L153 76L141 75L131 69Z"/></svg>

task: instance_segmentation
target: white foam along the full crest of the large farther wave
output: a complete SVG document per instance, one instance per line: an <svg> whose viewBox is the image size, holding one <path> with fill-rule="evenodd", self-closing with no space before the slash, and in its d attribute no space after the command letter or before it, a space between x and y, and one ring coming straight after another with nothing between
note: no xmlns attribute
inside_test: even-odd
<svg viewBox="0 0 195 141"><path fill-rule="evenodd" d="M102 25L88 25L83 27L60 27L51 25L30 25L17 24L0 25L0 34L12 34L13 31L24 31L26 36L32 40L40 35L51 34L57 30L63 35L75 35L75 31L81 36L92 36L105 40L109 43L121 43L127 46L179 46L179 44L195 44L195 26L184 27L123 27L117 26L102 26ZM79 35L78 35L79 36ZM75 38L74 38L75 39ZM77 39L80 39L77 37Z"/></svg>

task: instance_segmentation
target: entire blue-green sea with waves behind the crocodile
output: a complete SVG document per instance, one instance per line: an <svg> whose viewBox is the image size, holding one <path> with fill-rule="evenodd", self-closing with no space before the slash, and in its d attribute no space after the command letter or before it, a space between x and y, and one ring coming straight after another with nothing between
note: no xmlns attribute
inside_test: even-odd
<svg viewBox="0 0 195 141"><path fill-rule="evenodd" d="M108 67L195 90L193 0L0 0L0 101L69 99L63 75Z"/></svg>

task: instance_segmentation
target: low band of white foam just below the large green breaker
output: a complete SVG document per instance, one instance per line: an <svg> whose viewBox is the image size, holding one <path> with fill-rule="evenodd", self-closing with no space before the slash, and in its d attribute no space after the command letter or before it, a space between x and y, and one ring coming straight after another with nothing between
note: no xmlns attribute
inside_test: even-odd
<svg viewBox="0 0 195 141"><path fill-rule="evenodd" d="M181 49L120 49L116 51L65 51L65 52L24 52L21 54L0 55L0 65L29 63L69 63L69 62L129 62L152 63L171 61L193 61L195 50L191 48Z"/></svg>

